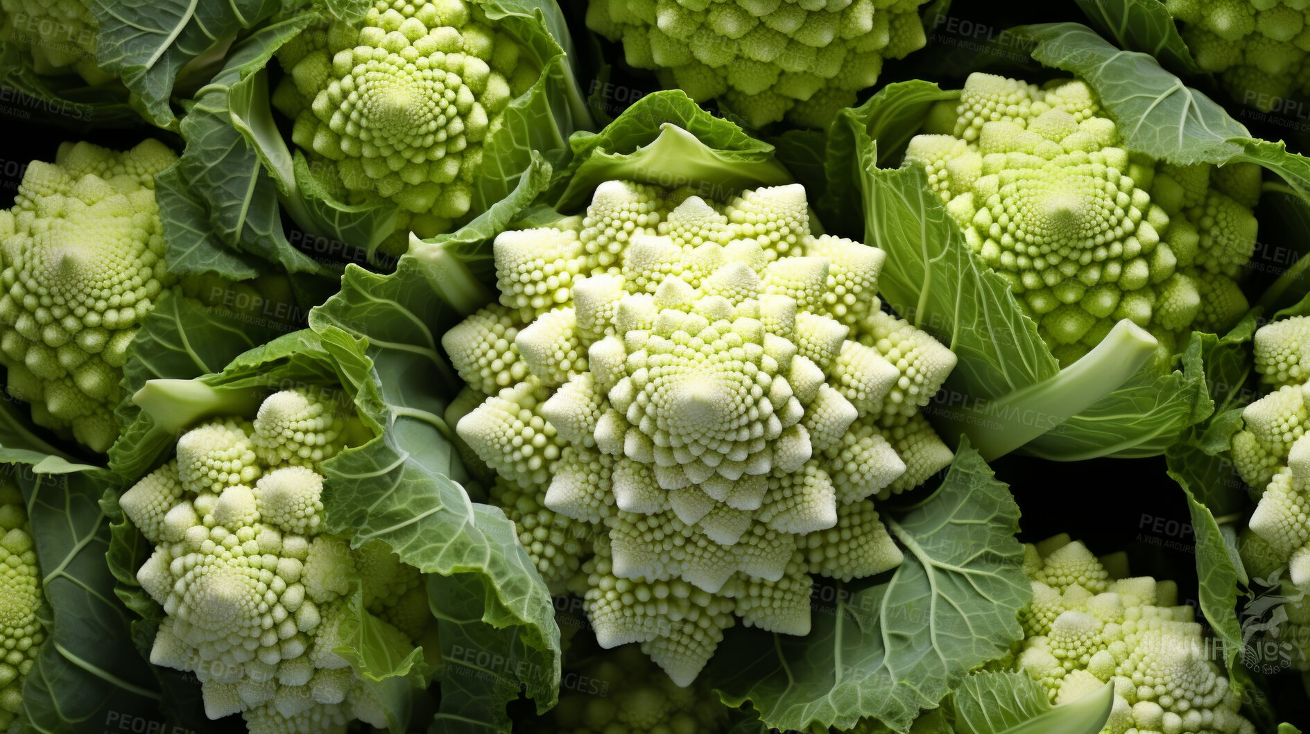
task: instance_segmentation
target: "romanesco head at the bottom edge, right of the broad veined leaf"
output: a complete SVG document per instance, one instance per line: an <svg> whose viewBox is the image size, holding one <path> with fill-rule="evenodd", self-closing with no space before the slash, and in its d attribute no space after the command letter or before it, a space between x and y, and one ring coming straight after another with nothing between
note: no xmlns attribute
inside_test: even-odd
<svg viewBox="0 0 1310 734"><path fill-rule="evenodd" d="M1066 535L1027 546L1032 604L1020 614L1026 640L1010 665L1056 705L1114 684L1103 734L1255 734L1192 607L1176 606L1176 585L1116 578L1117 565Z"/></svg>

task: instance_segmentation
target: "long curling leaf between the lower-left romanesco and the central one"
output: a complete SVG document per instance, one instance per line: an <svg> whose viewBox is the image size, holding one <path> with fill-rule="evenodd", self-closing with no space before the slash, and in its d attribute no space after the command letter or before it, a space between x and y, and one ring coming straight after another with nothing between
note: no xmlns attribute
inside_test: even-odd
<svg viewBox="0 0 1310 734"><path fill-rule="evenodd" d="M335 356L356 403L385 428L324 464L324 506L334 533L355 543L385 540L434 574L430 603L448 661L439 717L508 722L504 707L520 688L538 710L554 704L559 629L514 525L499 509L470 502L460 484L466 475L441 417L460 382L438 345L458 318L410 256L388 276L348 267L341 293L310 314L329 351L337 335L367 344L363 358ZM504 669L490 680L473 676L449 662L453 646L483 652Z"/></svg>

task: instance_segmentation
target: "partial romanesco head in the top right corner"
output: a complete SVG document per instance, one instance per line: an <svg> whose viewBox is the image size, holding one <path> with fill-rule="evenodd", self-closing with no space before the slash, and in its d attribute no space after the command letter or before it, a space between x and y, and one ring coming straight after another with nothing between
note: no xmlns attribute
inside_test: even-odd
<svg viewBox="0 0 1310 734"><path fill-rule="evenodd" d="M1303 0L1165 0L1196 63L1238 102L1262 111L1310 89L1310 5Z"/></svg>

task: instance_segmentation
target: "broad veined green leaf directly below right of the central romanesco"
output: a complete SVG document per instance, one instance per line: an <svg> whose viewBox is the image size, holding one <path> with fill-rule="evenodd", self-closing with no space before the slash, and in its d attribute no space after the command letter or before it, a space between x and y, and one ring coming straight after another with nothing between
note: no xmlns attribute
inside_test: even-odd
<svg viewBox="0 0 1310 734"><path fill-rule="evenodd" d="M838 584L808 636L732 629L706 673L722 700L778 729L904 731L968 671L1022 638L1031 599L1019 508L977 451L960 446L942 487L884 522L905 560L887 581Z"/></svg>

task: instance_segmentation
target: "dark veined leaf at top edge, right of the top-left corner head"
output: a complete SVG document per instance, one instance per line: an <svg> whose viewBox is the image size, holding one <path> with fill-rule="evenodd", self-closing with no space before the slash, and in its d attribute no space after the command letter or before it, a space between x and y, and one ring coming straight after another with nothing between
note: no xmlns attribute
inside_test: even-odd
<svg viewBox="0 0 1310 734"><path fill-rule="evenodd" d="M173 128L177 119L169 101L182 69L280 7L278 0L93 0L100 24L96 61L132 90L147 119Z"/></svg>

